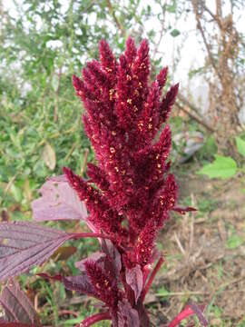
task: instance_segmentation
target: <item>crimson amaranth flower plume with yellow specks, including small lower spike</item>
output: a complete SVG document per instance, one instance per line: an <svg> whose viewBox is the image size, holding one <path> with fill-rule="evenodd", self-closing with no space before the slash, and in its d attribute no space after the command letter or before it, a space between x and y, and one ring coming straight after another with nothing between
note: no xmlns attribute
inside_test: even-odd
<svg viewBox="0 0 245 327"><path fill-rule="evenodd" d="M112 310L121 303L123 311L126 299L132 311L143 311L138 302L140 294L135 290L149 288L151 278L145 285L149 267L158 256L156 235L171 210L184 211L175 206L177 183L169 173L171 130L166 120L178 84L162 95L167 73L167 67L163 68L151 84L148 43L143 40L137 49L129 37L119 62L109 45L101 41L100 62L88 63L83 68L83 78L73 76L75 92L85 108L85 132L93 144L97 164L88 164L87 181L68 168L64 168L64 173L86 203L93 232L108 235L122 259L121 272L113 276L108 276L96 261L88 260L84 265L97 296ZM103 266L105 263L106 259ZM137 287L132 276L136 276ZM121 280L124 293L113 279ZM113 326L120 316L117 311ZM149 325L145 317L141 326Z"/></svg>

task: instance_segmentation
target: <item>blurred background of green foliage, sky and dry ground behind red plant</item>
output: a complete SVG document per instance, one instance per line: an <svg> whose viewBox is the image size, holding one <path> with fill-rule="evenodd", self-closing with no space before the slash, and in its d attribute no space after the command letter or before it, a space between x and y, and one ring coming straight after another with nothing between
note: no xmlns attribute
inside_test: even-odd
<svg viewBox="0 0 245 327"><path fill-rule="evenodd" d="M147 37L155 72L168 64L170 83L184 81L171 117L173 170L180 202L199 209L185 218L172 217L160 235L166 264L149 309L160 325L191 298L207 303L211 325L245 326L244 4L149 3L0 1L0 220L31 219L37 190L64 165L85 176L93 149L83 133L72 74L80 74L98 55L101 38L119 54L128 35L137 43ZM184 71L184 45L191 35L199 50L187 50L200 51L201 64ZM204 84L208 91L200 102L195 88ZM83 224L60 224L84 229ZM94 241L67 245L45 270L75 274L73 263L96 246ZM60 284L34 276L22 276L21 282L46 325L73 325L91 313L84 296L71 297Z"/></svg>

